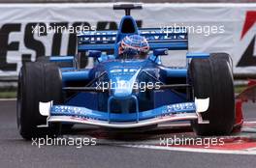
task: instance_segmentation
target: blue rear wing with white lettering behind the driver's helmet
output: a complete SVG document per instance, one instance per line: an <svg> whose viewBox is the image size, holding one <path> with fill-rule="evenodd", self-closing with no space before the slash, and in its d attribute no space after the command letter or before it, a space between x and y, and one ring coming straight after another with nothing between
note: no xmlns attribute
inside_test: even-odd
<svg viewBox="0 0 256 168"><path fill-rule="evenodd" d="M169 50L187 50L188 36L184 27L168 30L161 28L139 29L139 34L148 41L150 49L168 48ZM132 34L123 34L129 36ZM114 50L117 31L89 31L78 35L78 51Z"/></svg>

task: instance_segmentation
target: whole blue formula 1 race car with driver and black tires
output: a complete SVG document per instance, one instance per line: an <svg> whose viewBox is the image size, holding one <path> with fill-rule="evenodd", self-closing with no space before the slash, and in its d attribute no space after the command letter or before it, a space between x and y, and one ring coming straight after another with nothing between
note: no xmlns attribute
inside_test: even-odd
<svg viewBox="0 0 256 168"><path fill-rule="evenodd" d="M188 50L185 29L139 29L125 10L117 31L78 35L76 56L41 57L18 76L17 126L25 139L55 134L59 126L112 128L190 121L198 135L229 134L236 120L232 61L225 53L189 53L186 66L161 62L169 50ZM112 54L106 54L111 53ZM95 60L91 69L81 59Z"/></svg>

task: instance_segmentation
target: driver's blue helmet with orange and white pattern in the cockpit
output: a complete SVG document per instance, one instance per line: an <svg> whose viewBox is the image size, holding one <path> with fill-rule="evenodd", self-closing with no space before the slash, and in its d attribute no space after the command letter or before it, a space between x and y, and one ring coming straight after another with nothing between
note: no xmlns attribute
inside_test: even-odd
<svg viewBox="0 0 256 168"><path fill-rule="evenodd" d="M140 35L126 36L119 44L118 58L144 59L149 51L146 39Z"/></svg>

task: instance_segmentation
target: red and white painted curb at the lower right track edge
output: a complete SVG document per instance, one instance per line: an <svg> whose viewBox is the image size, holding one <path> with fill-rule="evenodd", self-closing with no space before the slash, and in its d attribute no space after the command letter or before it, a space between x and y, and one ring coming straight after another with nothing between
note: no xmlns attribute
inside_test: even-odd
<svg viewBox="0 0 256 168"><path fill-rule="evenodd" d="M186 134L188 137L191 137L191 133L186 132L183 135L186 136ZM158 144L157 141L155 141L155 144L128 144L120 146L129 148L208 154L256 154L256 122L245 122L241 128L241 132L238 134L217 138L222 138L224 140L224 144L209 147L205 147L203 145L163 146L159 144L159 141Z"/></svg>

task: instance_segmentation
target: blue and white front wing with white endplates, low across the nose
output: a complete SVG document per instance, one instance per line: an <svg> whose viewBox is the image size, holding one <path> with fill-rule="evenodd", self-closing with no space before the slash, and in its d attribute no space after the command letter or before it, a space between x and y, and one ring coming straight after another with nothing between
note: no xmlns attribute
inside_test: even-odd
<svg viewBox="0 0 256 168"><path fill-rule="evenodd" d="M171 121L198 120L203 121L201 113L208 110L208 98L195 99L195 102L183 102L164 105L155 109L128 114L101 112L85 107L52 105L50 102L40 102L40 113L48 116L48 123L72 123L114 128L129 128L157 125Z"/></svg>

